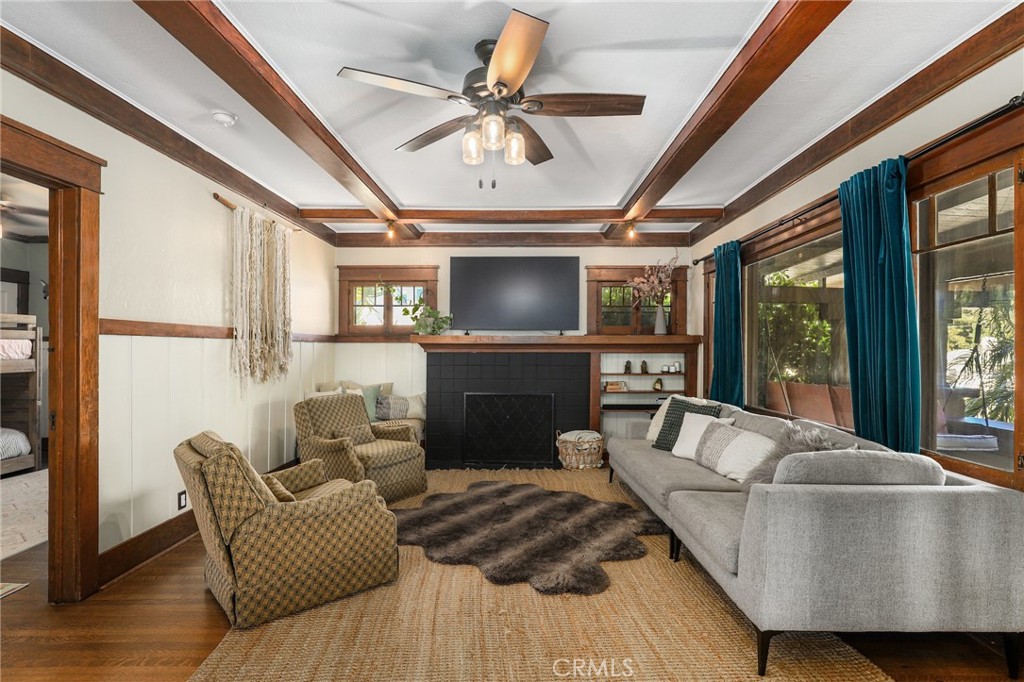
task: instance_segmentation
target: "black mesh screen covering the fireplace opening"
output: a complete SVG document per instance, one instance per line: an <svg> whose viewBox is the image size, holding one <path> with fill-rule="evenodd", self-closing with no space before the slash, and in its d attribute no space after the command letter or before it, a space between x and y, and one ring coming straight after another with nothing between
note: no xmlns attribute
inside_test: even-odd
<svg viewBox="0 0 1024 682"><path fill-rule="evenodd" d="M545 467L554 462L554 393L464 393L466 466Z"/></svg>

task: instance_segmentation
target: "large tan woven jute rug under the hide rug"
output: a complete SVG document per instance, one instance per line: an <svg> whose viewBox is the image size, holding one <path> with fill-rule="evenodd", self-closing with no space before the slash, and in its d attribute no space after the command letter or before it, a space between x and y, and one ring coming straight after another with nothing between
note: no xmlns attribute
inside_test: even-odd
<svg viewBox="0 0 1024 682"><path fill-rule="evenodd" d="M535 483L630 502L607 472L431 471L429 494L478 480ZM426 495L394 507L419 507ZM746 619L692 559L673 563L666 536L639 539L647 556L602 564L598 595L544 595L498 586L475 566L428 560L402 546L398 580L251 630L232 630L193 680L489 682L622 679L760 680ZM603 668L602 668L603 666ZM890 680L829 634L772 640L768 678Z"/></svg>

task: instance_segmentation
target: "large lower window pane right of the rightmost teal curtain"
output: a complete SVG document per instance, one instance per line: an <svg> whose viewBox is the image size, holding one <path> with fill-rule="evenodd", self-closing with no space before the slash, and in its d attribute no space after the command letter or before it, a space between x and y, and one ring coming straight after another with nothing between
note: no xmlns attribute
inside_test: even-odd
<svg viewBox="0 0 1024 682"><path fill-rule="evenodd" d="M923 444L1013 470L1014 236L920 256ZM928 321L932 321L928 324ZM924 326L923 326L924 327Z"/></svg>

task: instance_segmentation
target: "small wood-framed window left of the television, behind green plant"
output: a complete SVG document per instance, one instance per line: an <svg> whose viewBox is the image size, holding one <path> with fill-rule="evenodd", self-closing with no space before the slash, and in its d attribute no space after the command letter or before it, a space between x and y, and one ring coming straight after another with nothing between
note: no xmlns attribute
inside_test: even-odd
<svg viewBox="0 0 1024 682"><path fill-rule="evenodd" d="M394 341L413 333L404 312L422 300L437 307L437 266L340 265L339 329L342 336Z"/></svg>

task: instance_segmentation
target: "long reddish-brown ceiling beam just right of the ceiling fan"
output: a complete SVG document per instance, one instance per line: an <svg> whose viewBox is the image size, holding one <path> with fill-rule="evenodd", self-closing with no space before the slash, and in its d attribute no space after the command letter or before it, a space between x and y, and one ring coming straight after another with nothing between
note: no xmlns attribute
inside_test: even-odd
<svg viewBox="0 0 1024 682"><path fill-rule="evenodd" d="M646 216L849 4L778 2L627 200L626 217Z"/></svg>

